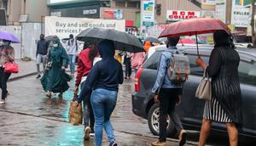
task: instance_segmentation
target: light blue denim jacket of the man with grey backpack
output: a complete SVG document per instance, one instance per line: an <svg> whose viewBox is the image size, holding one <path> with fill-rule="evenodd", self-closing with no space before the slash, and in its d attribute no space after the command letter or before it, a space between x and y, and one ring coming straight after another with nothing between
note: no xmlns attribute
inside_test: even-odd
<svg viewBox="0 0 256 146"><path fill-rule="evenodd" d="M167 48L164 53L161 53L156 81L154 82L154 87L151 90L152 93L158 94L160 88L183 88L183 84L174 84L167 76L167 69L170 65L170 60L172 59L172 53L176 52L176 47L170 47Z"/></svg>

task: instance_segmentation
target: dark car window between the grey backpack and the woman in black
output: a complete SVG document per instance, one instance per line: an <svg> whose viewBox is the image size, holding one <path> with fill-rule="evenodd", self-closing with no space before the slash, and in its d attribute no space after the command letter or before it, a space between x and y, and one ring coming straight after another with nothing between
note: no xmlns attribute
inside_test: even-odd
<svg viewBox="0 0 256 146"><path fill-rule="evenodd" d="M190 74L195 76L203 76L204 70L201 68L201 66L195 64L195 59L198 58L197 55L192 54L186 54L189 57L189 64L190 64ZM201 59L205 61L205 63L208 64L209 57L208 56L201 56Z"/></svg>

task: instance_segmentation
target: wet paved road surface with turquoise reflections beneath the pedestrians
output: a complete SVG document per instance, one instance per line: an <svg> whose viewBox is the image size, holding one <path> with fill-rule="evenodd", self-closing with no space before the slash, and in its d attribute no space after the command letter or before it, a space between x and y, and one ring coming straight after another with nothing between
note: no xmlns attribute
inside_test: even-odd
<svg viewBox="0 0 256 146"><path fill-rule="evenodd" d="M11 81L8 86L8 103L0 105L0 145L94 145L93 139L90 143L83 142L83 126L67 123L74 81L63 98L57 95L46 98L35 76ZM150 145L157 138L149 131L148 122L131 112L132 91L131 80L119 87L118 104L111 120L115 135L119 145ZM198 136L198 132L189 132L189 141L197 142ZM227 139L213 136L209 143L227 145ZM173 139L168 143L177 145ZM104 145L108 145L106 136Z"/></svg>

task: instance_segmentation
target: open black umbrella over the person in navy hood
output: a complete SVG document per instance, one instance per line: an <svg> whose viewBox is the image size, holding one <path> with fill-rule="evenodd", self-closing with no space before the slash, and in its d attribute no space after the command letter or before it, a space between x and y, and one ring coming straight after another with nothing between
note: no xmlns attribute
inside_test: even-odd
<svg viewBox="0 0 256 146"><path fill-rule="evenodd" d="M122 31L116 31L103 28L88 28L82 31L77 37L77 40L83 42L101 42L103 39L111 40L115 43L115 48L127 52L143 52L143 44L137 39Z"/></svg>

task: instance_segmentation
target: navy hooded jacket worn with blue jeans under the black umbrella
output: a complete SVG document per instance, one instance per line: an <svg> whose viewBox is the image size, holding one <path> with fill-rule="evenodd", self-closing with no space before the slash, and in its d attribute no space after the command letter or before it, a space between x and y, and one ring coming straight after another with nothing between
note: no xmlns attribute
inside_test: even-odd
<svg viewBox="0 0 256 146"><path fill-rule="evenodd" d="M104 40L98 45L102 60L92 67L86 78L77 101L80 103L91 90L103 88L118 91L119 84L124 81L122 65L113 58L114 45L112 41Z"/></svg>

